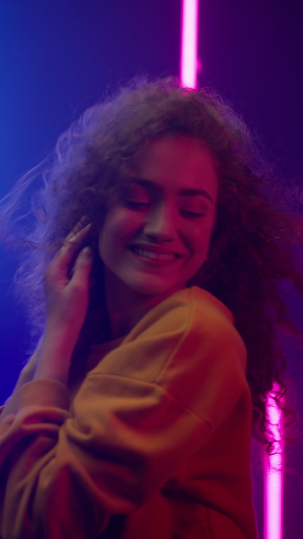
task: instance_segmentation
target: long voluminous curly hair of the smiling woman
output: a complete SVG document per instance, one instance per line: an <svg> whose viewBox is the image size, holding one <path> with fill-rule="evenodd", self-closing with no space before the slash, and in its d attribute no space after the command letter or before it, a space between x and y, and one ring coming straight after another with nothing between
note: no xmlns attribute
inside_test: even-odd
<svg viewBox="0 0 303 539"><path fill-rule="evenodd" d="M18 237L23 247L18 291L21 287L36 327L43 328L43 281L50 259L83 216L93 224L89 243L97 251L108 203L126 181L126 170L150 141L167 135L195 137L216 157L217 221L208 258L189 285L214 294L235 317L248 351L254 434L270 452L266 395L275 384L275 398L285 414L288 410L277 327L289 329L292 323L280 283L290 279L303 292L293 261L302 226L281 202L244 121L215 92L180 88L173 79L135 80L87 109L59 137L51 158L21 178L4 201L2 234L8 242ZM94 264L100 277L100 257Z"/></svg>

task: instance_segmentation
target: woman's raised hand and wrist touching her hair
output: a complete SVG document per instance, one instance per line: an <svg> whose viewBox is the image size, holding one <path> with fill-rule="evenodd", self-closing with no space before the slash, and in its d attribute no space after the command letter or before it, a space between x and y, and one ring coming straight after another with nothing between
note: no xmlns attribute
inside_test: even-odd
<svg viewBox="0 0 303 539"><path fill-rule="evenodd" d="M88 308L93 263L91 247L85 247L78 254L71 278L70 266L90 229L90 224L78 223L47 268L46 331L35 379L67 381L73 349Z"/></svg>

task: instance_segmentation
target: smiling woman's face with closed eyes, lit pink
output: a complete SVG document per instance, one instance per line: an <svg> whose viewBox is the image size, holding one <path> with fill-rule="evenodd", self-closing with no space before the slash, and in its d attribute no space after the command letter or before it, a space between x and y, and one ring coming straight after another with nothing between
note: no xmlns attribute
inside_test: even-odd
<svg viewBox="0 0 303 539"><path fill-rule="evenodd" d="M112 277L142 294L185 288L208 253L217 192L214 158L201 141L170 136L150 143L100 233Z"/></svg>

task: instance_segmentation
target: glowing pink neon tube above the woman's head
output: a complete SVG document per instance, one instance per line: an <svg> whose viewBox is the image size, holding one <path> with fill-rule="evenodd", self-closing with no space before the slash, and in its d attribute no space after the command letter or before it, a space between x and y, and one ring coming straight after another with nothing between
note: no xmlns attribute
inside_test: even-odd
<svg viewBox="0 0 303 539"><path fill-rule="evenodd" d="M182 0L181 26L181 85L197 88L199 0Z"/></svg>

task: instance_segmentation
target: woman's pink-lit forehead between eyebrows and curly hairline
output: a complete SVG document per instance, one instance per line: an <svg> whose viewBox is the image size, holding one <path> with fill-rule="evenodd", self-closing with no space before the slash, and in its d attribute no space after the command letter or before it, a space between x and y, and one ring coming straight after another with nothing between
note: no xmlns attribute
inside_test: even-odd
<svg viewBox="0 0 303 539"><path fill-rule="evenodd" d="M204 189L214 199L218 191L216 161L198 139L167 136L150 142L131 176L162 190Z"/></svg>

